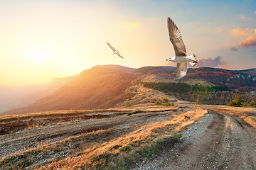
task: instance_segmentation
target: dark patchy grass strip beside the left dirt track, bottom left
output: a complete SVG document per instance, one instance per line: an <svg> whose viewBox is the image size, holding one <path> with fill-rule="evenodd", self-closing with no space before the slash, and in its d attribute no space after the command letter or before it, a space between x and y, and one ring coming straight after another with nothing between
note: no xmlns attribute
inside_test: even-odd
<svg viewBox="0 0 256 170"><path fill-rule="evenodd" d="M128 130L110 129L88 132L75 137L68 137L60 142L38 143L36 148L21 149L16 154L4 157L0 160L0 169L23 169L23 167L36 168L36 164L58 161L69 155L78 157L83 151L95 145L101 145L106 140L113 140L115 137L131 132L136 127ZM31 167L33 166L33 168Z"/></svg>

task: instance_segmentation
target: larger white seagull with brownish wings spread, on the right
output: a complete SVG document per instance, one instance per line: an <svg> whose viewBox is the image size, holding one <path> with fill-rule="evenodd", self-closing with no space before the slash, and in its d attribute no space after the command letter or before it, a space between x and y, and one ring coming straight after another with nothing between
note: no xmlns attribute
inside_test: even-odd
<svg viewBox="0 0 256 170"><path fill-rule="evenodd" d="M181 79L186 76L186 72L188 69L188 62L195 67L198 61L196 60L196 55L186 55L186 47L181 38L181 31L178 30L178 27L171 20L171 18L167 18L167 27L169 31L169 37L171 43L174 45L175 56L169 57L166 61L176 62L176 74L177 79Z"/></svg>

